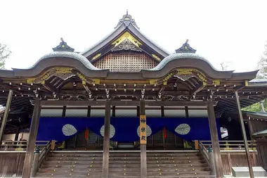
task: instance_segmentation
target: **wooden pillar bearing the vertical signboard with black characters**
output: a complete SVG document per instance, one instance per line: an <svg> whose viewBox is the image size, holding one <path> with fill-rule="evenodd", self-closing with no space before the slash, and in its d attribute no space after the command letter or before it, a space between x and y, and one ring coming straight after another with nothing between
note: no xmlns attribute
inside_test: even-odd
<svg viewBox="0 0 267 178"><path fill-rule="evenodd" d="M143 129L143 127L145 129ZM141 178L147 177L146 164L146 116L145 116L145 101L140 101L140 149L141 149Z"/></svg>

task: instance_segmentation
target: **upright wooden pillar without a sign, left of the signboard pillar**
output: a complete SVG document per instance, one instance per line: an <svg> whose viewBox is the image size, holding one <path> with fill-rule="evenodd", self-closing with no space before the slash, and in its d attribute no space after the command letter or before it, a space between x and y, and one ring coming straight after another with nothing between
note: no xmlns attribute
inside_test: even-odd
<svg viewBox="0 0 267 178"><path fill-rule="evenodd" d="M104 143L103 143L103 166L102 178L108 178L109 154L110 154L110 103L105 102L105 128L104 128Z"/></svg>

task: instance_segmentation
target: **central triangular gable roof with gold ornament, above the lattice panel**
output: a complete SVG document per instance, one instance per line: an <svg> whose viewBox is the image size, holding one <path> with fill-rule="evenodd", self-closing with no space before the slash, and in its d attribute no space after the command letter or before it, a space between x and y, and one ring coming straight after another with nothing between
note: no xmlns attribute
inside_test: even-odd
<svg viewBox="0 0 267 178"><path fill-rule="evenodd" d="M167 51L164 51L164 49L141 33L131 15L128 14L119 20L117 27L115 27L112 33L98 42L98 44L80 54L91 63L96 63L100 58L103 58L103 56L112 51L141 52L157 62L169 56Z"/></svg>

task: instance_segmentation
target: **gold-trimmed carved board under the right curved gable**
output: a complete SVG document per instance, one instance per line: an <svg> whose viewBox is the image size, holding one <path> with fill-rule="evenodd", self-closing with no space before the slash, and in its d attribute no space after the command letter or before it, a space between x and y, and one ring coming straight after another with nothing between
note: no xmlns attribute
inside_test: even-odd
<svg viewBox="0 0 267 178"><path fill-rule="evenodd" d="M190 68L178 68L176 70L171 71L168 75L166 75L165 77L161 78L161 79L153 79L150 80L150 84L167 84L167 81L171 78L171 77L178 77L181 80L188 80L190 77L197 77L200 79L200 81L203 82L203 85L207 85L207 84L220 84L220 80L211 80L208 77L206 77L206 75L204 75L202 72L200 72L199 70L196 69L190 69Z"/></svg>

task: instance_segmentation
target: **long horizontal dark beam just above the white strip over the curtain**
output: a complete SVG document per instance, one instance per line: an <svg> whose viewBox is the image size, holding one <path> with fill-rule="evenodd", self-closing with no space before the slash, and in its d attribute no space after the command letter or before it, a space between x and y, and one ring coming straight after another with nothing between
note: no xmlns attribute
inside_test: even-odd
<svg viewBox="0 0 267 178"><path fill-rule="evenodd" d="M36 101L31 101L34 104ZM112 106L139 106L140 101L110 101ZM216 106L217 101L210 101ZM145 101L145 106L207 106L207 101ZM103 106L105 101L41 101L41 106Z"/></svg>

